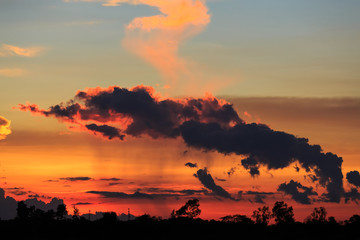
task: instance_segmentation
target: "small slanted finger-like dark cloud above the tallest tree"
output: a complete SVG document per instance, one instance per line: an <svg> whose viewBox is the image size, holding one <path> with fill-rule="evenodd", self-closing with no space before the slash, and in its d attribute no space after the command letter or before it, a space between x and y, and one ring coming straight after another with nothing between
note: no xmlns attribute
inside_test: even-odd
<svg viewBox="0 0 360 240"><path fill-rule="evenodd" d="M213 177L206 168L199 169L194 176L199 179L204 187L211 190L214 195L234 200L225 189L215 183Z"/></svg>

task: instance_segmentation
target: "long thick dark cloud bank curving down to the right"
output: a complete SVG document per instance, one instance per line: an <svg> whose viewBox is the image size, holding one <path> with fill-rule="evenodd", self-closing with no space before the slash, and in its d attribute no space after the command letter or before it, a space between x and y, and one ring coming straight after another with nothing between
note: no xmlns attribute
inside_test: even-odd
<svg viewBox="0 0 360 240"><path fill-rule="evenodd" d="M188 121L180 126L180 131L188 146L224 154L249 155L251 161L268 169L282 169L297 161L319 178L320 185L327 189L324 198L340 202L343 196L342 158L323 153L319 145L310 145L308 139L254 123L224 128L217 123Z"/></svg>

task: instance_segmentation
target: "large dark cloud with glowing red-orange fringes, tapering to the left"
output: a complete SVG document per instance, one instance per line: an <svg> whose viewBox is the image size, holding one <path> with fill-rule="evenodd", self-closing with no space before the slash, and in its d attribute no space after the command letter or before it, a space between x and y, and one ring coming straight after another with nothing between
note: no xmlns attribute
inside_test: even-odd
<svg viewBox="0 0 360 240"><path fill-rule="evenodd" d="M41 110L31 104L20 104L19 109L81 125L89 121L105 123L131 119L131 123L122 130L110 126L101 127L95 123L86 124L91 131L99 132L107 138L120 139L123 139L122 135L175 138L180 136L179 126L190 119L216 121L222 125L242 122L232 105L223 104L216 98L159 100L152 92L152 88L145 86L137 86L131 90L120 87L95 91L89 89L79 91L67 104L54 105L49 110ZM120 132L119 137L117 134Z"/></svg>

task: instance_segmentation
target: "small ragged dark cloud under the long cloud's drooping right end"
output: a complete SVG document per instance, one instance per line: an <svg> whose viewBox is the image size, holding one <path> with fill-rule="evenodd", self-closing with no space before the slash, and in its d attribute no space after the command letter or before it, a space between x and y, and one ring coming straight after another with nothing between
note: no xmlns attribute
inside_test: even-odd
<svg viewBox="0 0 360 240"><path fill-rule="evenodd" d="M302 204L310 204L311 200L309 196L318 195L312 187L305 187L294 180L291 180L289 183L280 184L278 191L290 195L294 201Z"/></svg>

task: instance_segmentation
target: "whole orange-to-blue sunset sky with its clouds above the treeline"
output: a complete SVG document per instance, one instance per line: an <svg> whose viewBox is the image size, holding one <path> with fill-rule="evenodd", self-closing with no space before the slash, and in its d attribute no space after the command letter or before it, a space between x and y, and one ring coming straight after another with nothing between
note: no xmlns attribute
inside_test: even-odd
<svg viewBox="0 0 360 240"><path fill-rule="evenodd" d="M33 198L169 217L198 198L205 219L275 201L300 221L318 206L349 218L360 200L359 10L0 0L0 217Z"/></svg>

